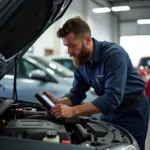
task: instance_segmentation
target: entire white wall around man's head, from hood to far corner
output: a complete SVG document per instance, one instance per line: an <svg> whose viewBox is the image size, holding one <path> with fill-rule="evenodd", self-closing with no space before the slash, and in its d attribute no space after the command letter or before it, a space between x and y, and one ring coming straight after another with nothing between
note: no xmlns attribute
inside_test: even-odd
<svg viewBox="0 0 150 150"><path fill-rule="evenodd" d="M104 0L102 0L104 1ZM105 1L104 1L105 2ZM92 36L98 40L118 42L117 19L111 13L95 14L92 12L95 3L88 0L74 0L65 15L54 23L33 45L34 54L44 55L44 49L55 50L55 54L67 55L67 49L56 36L56 31L71 17L81 16L87 21L92 29Z"/></svg>

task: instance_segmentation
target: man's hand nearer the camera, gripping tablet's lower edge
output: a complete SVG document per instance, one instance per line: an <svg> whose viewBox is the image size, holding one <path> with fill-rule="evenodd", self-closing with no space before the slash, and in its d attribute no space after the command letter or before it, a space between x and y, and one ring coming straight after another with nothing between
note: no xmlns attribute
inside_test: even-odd
<svg viewBox="0 0 150 150"><path fill-rule="evenodd" d="M72 118L76 115L74 107L63 104L57 104L56 106L52 107L50 112L51 115L54 116L56 119Z"/></svg>

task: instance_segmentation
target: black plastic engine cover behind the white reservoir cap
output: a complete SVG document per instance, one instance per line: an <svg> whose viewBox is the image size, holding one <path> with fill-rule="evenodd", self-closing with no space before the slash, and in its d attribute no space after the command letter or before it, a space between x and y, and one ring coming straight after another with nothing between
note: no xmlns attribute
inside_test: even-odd
<svg viewBox="0 0 150 150"><path fill-rule="evenodd" d="M38 119L17 119L11 120L4 127L5 135L13 137L23 137L30 139L43 139L49 131L55 131L60 140L70 139L63 125L55 124L48 120Z"/></svg>

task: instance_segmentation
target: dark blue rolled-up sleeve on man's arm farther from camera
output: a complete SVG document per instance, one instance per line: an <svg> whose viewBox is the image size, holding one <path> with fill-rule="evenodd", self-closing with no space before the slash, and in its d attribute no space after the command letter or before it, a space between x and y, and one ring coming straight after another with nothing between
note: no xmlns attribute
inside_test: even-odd
<svg viewBox="0 0 150 150"><path fill-rule="evenodd" d="M89 84L84 80L79 70L75 69L73 87L69 93L64 95L64 97L68 97L73 105L78 105L86 98L86 92L89 88Z"/></svg>

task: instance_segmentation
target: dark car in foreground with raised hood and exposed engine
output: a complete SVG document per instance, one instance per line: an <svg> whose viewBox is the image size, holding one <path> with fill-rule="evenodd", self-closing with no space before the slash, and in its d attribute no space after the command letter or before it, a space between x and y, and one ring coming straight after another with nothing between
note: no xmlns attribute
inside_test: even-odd
<svg viewBox="0 0 150 150"><path fill-rule="evenodd" d="M64 14L70 3L71 0L0 1L0 78L15 67L14 99L0 98L3 150L138 149L134 138L121 127L81 116L56 120L39 104L17 100L17 63L34 41ZM60 140L51 142L57 136ZM44 138L48 142L44 142Z"/></svg>

